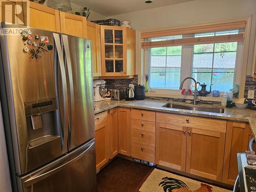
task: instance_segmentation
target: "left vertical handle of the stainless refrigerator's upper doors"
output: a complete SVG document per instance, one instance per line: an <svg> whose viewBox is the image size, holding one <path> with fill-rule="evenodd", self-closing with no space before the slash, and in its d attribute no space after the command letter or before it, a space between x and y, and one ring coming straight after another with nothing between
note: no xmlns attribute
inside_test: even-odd
<svg viewBox="0 0 256 192"><path fill-rule="evenodd" d="M68 116L68 91L67 91L67 80L66 80L66 72L65 72L65 65L61 50L60 38L58 33L53 33L58 59L59 59L59 66L60 66L60 73L61 73L61 82L62 82L62 94L63 94L63 103L64 103L64 130L63 130L63 146L62 151L68 151L68 126L69 126L69 116Z"/></svg>

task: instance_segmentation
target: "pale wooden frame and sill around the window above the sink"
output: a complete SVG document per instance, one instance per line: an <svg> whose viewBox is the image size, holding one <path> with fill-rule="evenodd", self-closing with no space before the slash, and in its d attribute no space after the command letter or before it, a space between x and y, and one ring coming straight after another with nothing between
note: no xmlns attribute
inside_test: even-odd
<svg viewBox="0 0 256 192"><path fill-rule="evenodd" d="M238 49L237 49L237 65L236 65L236 72L234 74L234 84L239 84L240 90L239 90L239 98L243 97L244 95L244 84L245 84L245 77L246 77L246 68L247 68L247 61L248 61L248 49L249 49L249 40L250 40L250 29L251 29L251 16L248 17L240 17L234 20L221 20L221 21L215 21L215 22L205 22L205 23L200 23L196 25L191 25L190 27L202 27L202 26L208 26L211 24L226 24L226 23L231 23L231 22L239 22L239 21L246 21L246 27L244 31L244 40L242 42L238 42ZM180 27L180 29L186 28L187 26ZM177 30L179 28L172 28L169 30ZM156 29L157 30L157 29ZM147 73L147 49L142 49L141 46L141 33L156 33L156 30L154 31L139 31L138 33L138 56L139 56L139 65L138 66L138 83L143 84L145 82L145 74ZM166 30L165 30L166 31ZM165 32L164 31L164 32ZM160 31L163 32L163 31ZM189 47L192 46L182 46L182 55L183 52L187 52L189 50ZM191 49L191 48L190 48ZM190 53L190 55L189 55ZM192 62L191 60L193 59L193 52L189 51L187 53L187 57L182 56L182 61L189 61L190 65L189 67L184 68L183 65L181 65L181 78L190 76L191 71L192 71ZM141 57L143 56L143 57ZM239 65L239 63L241 65ZM186 88L190 84L189 81L185 81L183 87ZM185 99L190 99L193 98L193 96L188 95L181 95L180 90L166 90L166 89L148 89L148 92L146 93L146 96L156 96L156 97L167 97L167 98L185 98ZM211 100L211 101L221 101L221 97L215 98L215 97L201 97L202 100Z"/></svg>

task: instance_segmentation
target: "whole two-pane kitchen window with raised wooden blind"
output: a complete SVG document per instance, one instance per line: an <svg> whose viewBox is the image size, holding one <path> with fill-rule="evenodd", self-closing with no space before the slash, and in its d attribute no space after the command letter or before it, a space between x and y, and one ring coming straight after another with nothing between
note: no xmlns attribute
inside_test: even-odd
<svg viewBox="0 0 256 192"><path fill-rule="evenodd" d="M188 76L207 84L208 89L213 84L212 90L220 92L240 84L244 31L237 28L143 38L149 92L180 94L180 82ZM195 84L188 80L183 88L194 90Z"/></svg>

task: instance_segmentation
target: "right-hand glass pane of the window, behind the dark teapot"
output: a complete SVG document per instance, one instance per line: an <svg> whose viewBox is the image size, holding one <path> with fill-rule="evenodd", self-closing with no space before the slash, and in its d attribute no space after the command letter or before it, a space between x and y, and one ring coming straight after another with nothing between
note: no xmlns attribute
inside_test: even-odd
<svg viewBox="0 0 256 192"><path fill-rule="evenodd" d="M238 30L196 34L195 37L238 34ZM193 46L192 74L197 81L213 84L214 90L229 91L234 84L238 42ZM191 88L195 89L192 82Z"/></svg>

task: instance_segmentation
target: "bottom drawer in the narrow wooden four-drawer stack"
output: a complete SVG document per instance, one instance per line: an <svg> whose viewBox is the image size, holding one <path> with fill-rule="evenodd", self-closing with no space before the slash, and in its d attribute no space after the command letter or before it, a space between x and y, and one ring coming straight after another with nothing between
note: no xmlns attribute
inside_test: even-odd
<svg viewBox="0 0 256 192"><path fill-rule="evenodd" d="M132 157L155 163L155 147L133 142Z"/></svg>

